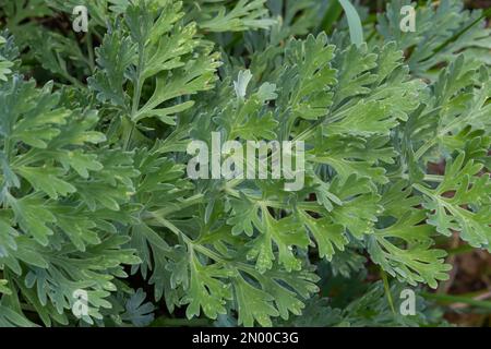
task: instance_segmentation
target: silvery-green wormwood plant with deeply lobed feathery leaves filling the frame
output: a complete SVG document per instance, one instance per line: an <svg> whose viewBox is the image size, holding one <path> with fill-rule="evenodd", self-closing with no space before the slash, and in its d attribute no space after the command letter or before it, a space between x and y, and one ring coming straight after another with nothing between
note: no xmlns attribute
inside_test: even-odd
<svg viewBox="0 0 491 349"><path fill-rule="evenodd" d="M481 12L392 1L351 44L335 1L86 1L75 35L81 3L0 8L0 326L443 323L395 305L448 278L435 239L490 249ZM189 179L212 132L303 141L304 186Z"/></svg>

